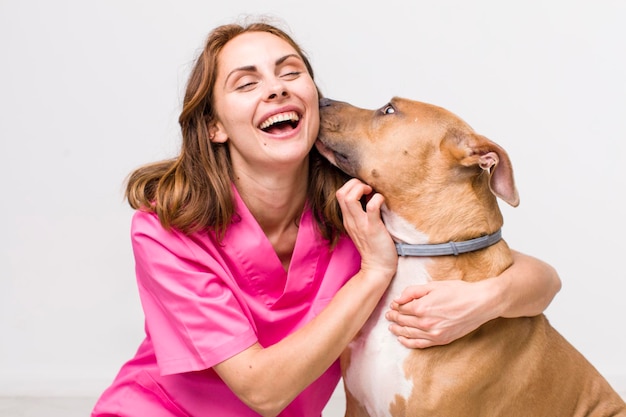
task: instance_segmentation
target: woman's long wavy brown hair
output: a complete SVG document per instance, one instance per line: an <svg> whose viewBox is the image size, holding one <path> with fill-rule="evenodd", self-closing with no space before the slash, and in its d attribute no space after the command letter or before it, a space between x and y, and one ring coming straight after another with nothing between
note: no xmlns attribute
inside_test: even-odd
<svg viewBox="0 0 626 417"><path fill-rule="evenodd" d="M228 146L209 140L209 126L216 121L213 88L218 55L228 41L246 32L268 32L285 40L302 57L313 78L304 51L273 24L226 24L209 34L192 68L178 119L182 129L180 154L144 165L127 178L125 196L130 206L156 213L166 229L176 228L186 234L211 230L221 238L233 221L233 170ZM345 232L335 192L347 178L315 147L311 150L307 197L321 235L333 245Z"/></svg>

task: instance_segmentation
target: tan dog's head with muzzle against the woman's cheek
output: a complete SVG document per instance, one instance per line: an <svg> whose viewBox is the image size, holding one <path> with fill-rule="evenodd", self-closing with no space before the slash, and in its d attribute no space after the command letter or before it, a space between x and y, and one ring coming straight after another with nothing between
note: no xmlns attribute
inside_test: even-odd
<svg viewBox="0 0 626 417"><path fill-rule="evenodd" d="M366 110L322 99L320 116L320 153L387 200L484 177L493 195L519 204L504 149L441 107L394 97Z"/></svg>

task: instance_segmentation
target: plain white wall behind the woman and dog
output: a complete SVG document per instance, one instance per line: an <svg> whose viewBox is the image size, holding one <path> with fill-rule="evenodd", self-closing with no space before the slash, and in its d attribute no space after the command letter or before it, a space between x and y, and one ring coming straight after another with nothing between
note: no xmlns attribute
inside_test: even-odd
<svg viewBox="0 0 626 417"><path fill-rule="evenodd" d="M505 238L556 267L548 317L624 392L626 2L0 0L0 395L95 396L133 355L124 178L176 154L209 30L256 13L326 96L429 101L509 151Z"/></svg>

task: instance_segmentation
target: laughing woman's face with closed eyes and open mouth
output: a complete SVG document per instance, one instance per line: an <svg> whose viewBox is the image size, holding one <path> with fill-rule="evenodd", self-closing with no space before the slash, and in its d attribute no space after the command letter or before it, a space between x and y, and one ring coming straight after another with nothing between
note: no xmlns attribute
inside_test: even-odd
<svg viewBox="0 0 626 417"><path fill-rule="evenodd" d="M319 97L302 58L283 39L248 32L218 56L213 142L228 142L236 172L302 165L319 130Z"/></svg>

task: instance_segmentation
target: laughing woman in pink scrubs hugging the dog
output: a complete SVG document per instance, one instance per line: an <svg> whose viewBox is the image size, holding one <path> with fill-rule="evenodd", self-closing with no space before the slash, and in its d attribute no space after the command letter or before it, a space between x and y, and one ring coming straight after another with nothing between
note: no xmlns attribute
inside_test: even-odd
<svg viewBox="0 0 626 417"><path fill-rule="evenodd" d="M283 31L211 32L188 82L180 155L129 178L146 338L93 416L321 415L337 358L397 255L382 196L364 211L372 189L312 150L318 100ZM388 318L401 343L432 346L497 316L538 314L559 286L551 267L516 254L496 279L409 288Z"/></svg>

